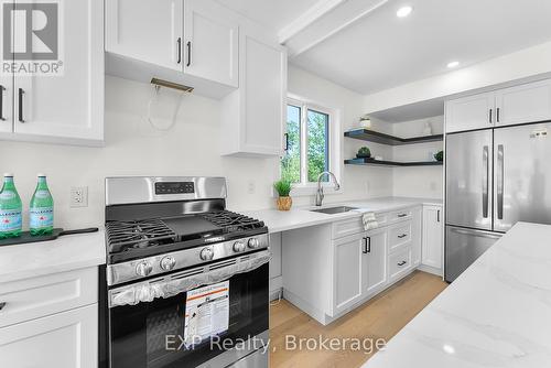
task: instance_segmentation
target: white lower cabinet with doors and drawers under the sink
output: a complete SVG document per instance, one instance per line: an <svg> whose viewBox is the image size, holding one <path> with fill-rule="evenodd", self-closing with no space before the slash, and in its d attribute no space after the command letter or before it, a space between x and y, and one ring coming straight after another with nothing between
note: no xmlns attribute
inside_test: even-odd
<svg viewBox="0 0 551 368"><path fill-rule="evenodd" d="M421 261L422 207L377 214L282 235L283 296L323 325L411 273Z"/></svg>

